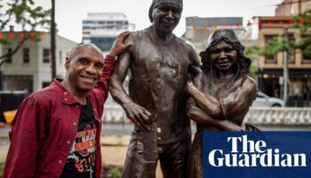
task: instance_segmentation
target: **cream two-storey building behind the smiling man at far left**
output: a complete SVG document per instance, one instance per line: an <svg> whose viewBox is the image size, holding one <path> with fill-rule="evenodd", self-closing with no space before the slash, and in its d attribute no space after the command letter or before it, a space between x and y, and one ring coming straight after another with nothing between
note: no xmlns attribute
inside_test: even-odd
<svg viewBox="0 0 311 178"><path fill-rule="evenodd" d="M24 32L1 32L1 37L9 38L11 44L0 44L0 56L12 51L20 42ZM38 32L37 32L38 33ZM11 59L2 67L3 90L27 90L32 93L49 85L52 81L52 62L50 51L50 34L40 33L42 40L39 42L28 40ZM56 36L56 74L64 77L65 59L71 48L77 43L62 36Z"/></svg>

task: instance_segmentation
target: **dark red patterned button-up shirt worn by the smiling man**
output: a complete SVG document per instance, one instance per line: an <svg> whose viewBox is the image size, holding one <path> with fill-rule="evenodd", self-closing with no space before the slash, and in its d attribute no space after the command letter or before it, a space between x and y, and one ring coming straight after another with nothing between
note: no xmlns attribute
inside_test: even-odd
<svg viewBox="0 0 311 178"><path fill-rule="evenodd" d="M107 56L104 73L89 94L96 125L96 177L100 178L100 118L108 97L108 78L115 59ZM4 178L60 177L76 137L81 105L54 79L52 85L31 94L20 105L9 133L10 149Z"/></svg>

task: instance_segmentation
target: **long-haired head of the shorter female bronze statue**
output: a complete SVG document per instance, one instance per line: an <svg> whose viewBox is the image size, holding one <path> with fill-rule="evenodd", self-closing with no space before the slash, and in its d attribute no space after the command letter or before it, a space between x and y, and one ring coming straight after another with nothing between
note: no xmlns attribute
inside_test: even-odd
<svg viewBox="0 0 311 178"><path fill-rule="evenodd" d="M235 36L232 29L217 29L211 33L208 39L208 47L200 53L202 69L210 71L215 69L234 69L242 73L248 73L251 60L243 54L244 46ZM220 58L224 58L221 61ZM217 62L219 60L219 63Z"/></svg>

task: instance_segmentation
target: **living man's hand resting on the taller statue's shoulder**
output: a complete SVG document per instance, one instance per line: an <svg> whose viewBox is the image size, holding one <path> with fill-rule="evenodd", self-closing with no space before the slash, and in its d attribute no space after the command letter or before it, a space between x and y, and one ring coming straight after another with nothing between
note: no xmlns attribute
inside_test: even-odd
<svg viewBox="0 0 311 178"><path fill-rule="evenodd" d="M123 53L126 49L130 48L132 44L124 44L124 40L130 35L129 31L124 31L116 37L115 43L112 45L109 55L116 57L117 54Z"/></svg>

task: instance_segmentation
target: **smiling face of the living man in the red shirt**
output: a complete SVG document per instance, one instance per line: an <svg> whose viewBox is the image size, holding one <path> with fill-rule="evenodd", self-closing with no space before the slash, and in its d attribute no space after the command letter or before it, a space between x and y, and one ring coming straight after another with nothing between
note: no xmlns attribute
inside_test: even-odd
<svg viewBox="0 0 311 178"><path fill-rule="evenodd" d="M91 44L79 46L71 59L66 59L67 79L77 93L90 92L100 81L103 73L102 54Z"/></svg>

